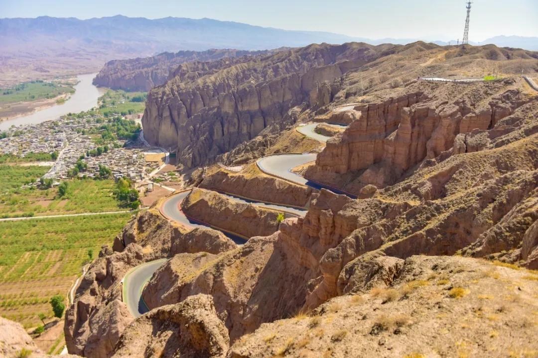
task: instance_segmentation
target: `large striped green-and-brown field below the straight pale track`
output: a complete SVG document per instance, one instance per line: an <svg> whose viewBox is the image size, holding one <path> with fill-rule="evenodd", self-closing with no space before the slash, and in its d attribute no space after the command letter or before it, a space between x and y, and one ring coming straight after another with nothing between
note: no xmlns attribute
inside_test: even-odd
<svg viewBox="0 0 538 358"><path fill-rule="evenodd" d="M0 222L0 316L24 327L53 317L49 299L66 297L86 263L129 221L131 213Z"/></svg>

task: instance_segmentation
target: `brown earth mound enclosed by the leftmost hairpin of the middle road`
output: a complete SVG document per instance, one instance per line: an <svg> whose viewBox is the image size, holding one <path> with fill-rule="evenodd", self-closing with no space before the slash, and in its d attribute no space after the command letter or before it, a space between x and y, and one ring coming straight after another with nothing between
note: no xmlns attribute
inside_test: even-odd
<svg viewBox="0 0 538 358"><path fill-rule="evenodd" d="M187 216L244 237L269 236L278 230L276 210L237 202L214 191L194 188L181 203ZM230 220L233 218L233 220Z"/></svg>

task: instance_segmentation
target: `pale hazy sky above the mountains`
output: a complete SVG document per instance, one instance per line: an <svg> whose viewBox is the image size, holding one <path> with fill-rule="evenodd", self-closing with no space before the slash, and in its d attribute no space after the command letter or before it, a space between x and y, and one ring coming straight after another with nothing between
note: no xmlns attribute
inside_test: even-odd
<svg viewBox="0 0 538 358"><path fill-rule="evenodd" d="M464 0L0 0L0 17L212 18L371 39L461 39ZM538 36L538 0L475 0L469 39Z"/></svg>

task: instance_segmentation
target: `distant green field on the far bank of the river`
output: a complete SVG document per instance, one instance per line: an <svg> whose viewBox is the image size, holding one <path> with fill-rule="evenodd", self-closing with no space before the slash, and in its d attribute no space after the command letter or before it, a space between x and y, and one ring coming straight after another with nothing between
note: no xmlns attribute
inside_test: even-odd
<svg viewBox="0 0 538 358"><path fill-rule="evenodd" d="M58 82L32 81L15 87L0 89L0 105L43 98L54 98L63 93L73 93L72 86Z"/></svg>

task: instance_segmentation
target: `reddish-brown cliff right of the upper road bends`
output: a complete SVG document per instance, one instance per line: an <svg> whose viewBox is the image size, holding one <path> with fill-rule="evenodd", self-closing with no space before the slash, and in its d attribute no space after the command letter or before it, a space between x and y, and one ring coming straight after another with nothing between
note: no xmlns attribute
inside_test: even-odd
<svg viewBox="0 0 538 358"><path fill-rule="evenodd" d="M366 185L383 188L394 184L423 160L452 147L458 148L455 153L465 151L455 145L462 141L458 137L462 131L491 129L529 101L518 90L502 91L502 87L500 83L494 86L501 94L493 97L490 89L477 87L473 91L476 103L468 100L469 93L465 98L444 100L415 92L382 103L356 105L350 111L360 115L341 136L327 142L306 176L345 186L355 194ZM483 107L479 100L489 101L488 105Z"/></svg>

